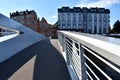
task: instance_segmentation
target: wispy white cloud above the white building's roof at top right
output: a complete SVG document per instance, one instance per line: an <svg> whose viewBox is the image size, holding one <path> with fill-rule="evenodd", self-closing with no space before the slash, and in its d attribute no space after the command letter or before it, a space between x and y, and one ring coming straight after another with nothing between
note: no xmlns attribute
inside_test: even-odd
<svg viewBox="0 0 120 80"><path fill-rule="evenodd" d="M114 4L120 3L120 0L81 0L77 7L105 7L109 8Z"/></svg>

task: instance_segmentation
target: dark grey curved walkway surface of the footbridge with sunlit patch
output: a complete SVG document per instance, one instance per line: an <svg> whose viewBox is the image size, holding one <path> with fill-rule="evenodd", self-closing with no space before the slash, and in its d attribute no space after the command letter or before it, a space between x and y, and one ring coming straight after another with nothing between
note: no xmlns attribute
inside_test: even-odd
<svg viewBox="0 0 120 80"><path fill-rule="evenodd" d="M0 63L0 80L71 80L57 40L51 43L37 42Z"/></svg>

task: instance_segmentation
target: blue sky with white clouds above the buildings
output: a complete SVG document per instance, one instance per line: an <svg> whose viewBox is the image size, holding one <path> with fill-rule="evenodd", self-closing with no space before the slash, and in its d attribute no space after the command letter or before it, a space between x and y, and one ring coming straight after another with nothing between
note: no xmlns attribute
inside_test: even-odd
<svg viewBox="0 0 120 80"><path fill-rule="evenodd" d="M57 21L57 10L63 6L103 7L110 9L110 26L120 20L120 0L1 0L0 13L9 17L10 12L35 10L37 16L44 17L48 23Z"/></svg>

